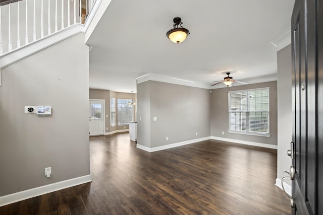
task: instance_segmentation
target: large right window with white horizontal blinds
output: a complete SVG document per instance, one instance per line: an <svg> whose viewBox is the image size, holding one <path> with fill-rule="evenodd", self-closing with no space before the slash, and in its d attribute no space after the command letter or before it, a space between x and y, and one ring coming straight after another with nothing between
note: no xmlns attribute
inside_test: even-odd
<svg viewBox="0 0 323 215"><path fill-rule="evenodd" d="M269 135L269 88L228 92L229 132Z"/></svg>

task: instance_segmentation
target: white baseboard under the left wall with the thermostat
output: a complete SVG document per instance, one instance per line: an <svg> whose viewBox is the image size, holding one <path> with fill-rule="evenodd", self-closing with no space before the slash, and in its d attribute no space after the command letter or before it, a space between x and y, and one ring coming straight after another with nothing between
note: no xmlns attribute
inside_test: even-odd
<svg viewBox="0 0 323 215"><path fill-rule="evenodd" d="M65 189L68 187L73 187L73 186L76 186L79 184L84 184L84 183L91 182L91 181L92 181L91 175L85 175L85 176L81 176L78 178L72 178L69 180L60 181L60 182L52 183L52 184L47 184L44 186L29 189L29 190L24 190L21 192L16 192L16 193L12 193L9 195L0 196L0 207L7 205L7 204L17 202L17 201L25 200L28 198L32 198L32 197L43 195L43 194L50 193L53 191Z"/></svg>

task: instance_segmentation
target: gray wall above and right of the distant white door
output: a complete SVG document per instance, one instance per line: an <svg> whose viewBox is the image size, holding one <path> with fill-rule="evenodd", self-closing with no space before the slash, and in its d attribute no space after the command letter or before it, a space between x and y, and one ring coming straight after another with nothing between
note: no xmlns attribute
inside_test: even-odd
<svg viewBox="0 0 323 215"><path fill-rule="evenodd" d="M110 96L111 92L110 90L97 90L97 89L89 89L89 98L90 99L103 99L105 101L105 107L104 107L104 115L105 115L105 127L104 132L110 132L111 129L111 123L110 123ZM107 115L107 117L106 117ZM107 130L106 130L107 128Z"/></svg>

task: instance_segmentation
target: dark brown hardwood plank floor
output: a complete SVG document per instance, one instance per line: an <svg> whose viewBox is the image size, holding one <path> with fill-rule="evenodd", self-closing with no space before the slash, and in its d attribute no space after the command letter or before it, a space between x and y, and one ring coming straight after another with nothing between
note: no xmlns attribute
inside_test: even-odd
<svg viewBox="0 0 323 215"><path fill-rule="evenodd" d="M290 214L276 150L206 140L148 153L129 133L90 137L92 182L0 214Z"/></svg>

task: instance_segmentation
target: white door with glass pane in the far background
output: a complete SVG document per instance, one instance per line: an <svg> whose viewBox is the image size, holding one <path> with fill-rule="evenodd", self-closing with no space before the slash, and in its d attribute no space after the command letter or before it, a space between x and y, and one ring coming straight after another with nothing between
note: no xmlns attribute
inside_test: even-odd
<svg viewBox="0 0 323 215"><path fill-rule="evenodd" d="M104 134L104 101L90 99L90 136Z"/></svg>

